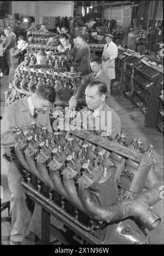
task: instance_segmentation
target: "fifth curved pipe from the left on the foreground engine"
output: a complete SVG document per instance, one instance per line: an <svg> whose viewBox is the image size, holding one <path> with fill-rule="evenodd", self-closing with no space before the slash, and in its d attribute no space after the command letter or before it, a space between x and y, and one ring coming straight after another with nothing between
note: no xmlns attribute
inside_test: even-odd
<svg viewBox="0 0 164 256"><path fill-rule="evenodd" d="M73 176L74 174L71 168L67 167L65 170L63 170L63 184L67 194L69 195L69 200L73 202L76 208L82 212L85 212L85 209L79 199Z"/></svg>

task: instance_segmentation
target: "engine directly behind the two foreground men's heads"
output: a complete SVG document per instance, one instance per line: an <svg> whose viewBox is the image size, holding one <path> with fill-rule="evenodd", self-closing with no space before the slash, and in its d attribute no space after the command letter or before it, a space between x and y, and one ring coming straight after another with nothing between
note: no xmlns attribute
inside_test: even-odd
<svg viewBox="0 0 164 256"><path fill-rule="evenodd" d="M34 65L36 58L33 53L27 54L24 65L17 68L14 80L5 92L5 105L15 100L31 95L38 84L51 84L55 88L57 106L68 106L72 95L77 94L82 83L81 73L67 71L69 57L65 54L48 55L49 65ZM32 64L32 65L31 65ZM55 105L50 109L50 118L53 118Z"/></svg>

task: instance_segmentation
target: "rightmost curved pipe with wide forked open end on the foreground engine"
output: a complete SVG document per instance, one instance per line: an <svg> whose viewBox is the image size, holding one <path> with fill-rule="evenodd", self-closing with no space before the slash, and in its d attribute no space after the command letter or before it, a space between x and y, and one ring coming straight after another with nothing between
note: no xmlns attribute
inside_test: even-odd
<svg viewBox="0 0 164 256"><path fill-rule="evenodd" d="M150 207L160 200L159 189L150 189L140 193L135 199L125 199L110 207L102 207L94 202L90 190L86 188L90 185L86 179L81 176L78 181L80 200L87 214L93 219L111 223L128 217L136 217L148 230L153 230L160 224L161 218L153 213Z"/></svg>

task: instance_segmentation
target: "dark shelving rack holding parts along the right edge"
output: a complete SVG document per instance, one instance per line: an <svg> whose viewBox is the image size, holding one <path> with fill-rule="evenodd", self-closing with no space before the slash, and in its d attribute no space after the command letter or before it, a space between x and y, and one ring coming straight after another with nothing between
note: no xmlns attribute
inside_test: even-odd
<svg viewBox="0 0 164 256"><path fill-rule="evenodd" d="M151 66L143 60L143 56L137 56L136 53L131 53L128 50L119 50L118 58L115 61L115 71L118 81L121 73L125 75L125 79L120 81L122 92L145 115L144 125L156 127L163 70ZM133 91L130 95L132 83ZM161 113L159 115L161 116Z"/></svg>

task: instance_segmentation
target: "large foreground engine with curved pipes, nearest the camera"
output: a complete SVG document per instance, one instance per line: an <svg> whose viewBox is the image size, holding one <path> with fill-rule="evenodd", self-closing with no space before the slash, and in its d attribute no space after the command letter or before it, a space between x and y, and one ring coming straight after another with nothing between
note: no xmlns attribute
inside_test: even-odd
<svg viewBox="0 0 164 256"><path fill-rule="evenodd" d="M113 141L94 131L53 134L36 123L26 135L21 127L15 132L15 153L26 171L22 185L44 212L65 225L65 231L55 228L58 240L73 245L149 243L145 228L160 224L153 205L163 189L152 145L145 149L140 138L127 143L124 133ZM50 226L42 226L49 234Z"/></svg>

